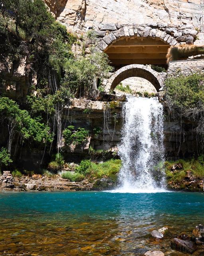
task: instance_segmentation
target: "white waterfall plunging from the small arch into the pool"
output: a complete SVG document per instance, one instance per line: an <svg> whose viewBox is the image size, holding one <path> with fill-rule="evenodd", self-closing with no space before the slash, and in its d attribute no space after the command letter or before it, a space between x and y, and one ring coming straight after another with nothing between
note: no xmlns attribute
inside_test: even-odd
<svg viewBox="0 0 204 256"><path fill-rule="evenodd" d="M122 168L115 192L165 191L161 164L164 160L162 104L157 98L131 96L124 104L123 116L119 147Z"/></svg>

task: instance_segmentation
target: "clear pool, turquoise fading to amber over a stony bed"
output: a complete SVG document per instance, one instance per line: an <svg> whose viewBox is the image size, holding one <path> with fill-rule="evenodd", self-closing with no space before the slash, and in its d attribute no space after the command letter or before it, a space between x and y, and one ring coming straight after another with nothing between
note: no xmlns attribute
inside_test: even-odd
<svg viewBox="0 0 204 256"><path fill-rule="evenodd" d="M204 224L203 212L204 193L0 193L0 255L188 255L170 240ZM171 236L150 242L147 234L162 226Z"/></svg>

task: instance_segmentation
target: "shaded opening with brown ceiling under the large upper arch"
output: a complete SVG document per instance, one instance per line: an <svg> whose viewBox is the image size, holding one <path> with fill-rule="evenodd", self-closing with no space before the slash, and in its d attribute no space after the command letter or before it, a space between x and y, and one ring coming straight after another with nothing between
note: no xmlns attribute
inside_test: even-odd
<svg viewBox="0 0 204 256"><path fill-rule="evenodd" d="M159 38L122 37L104 51L116 69L130 64L149 64L167 68L169 44Z"/></svg>

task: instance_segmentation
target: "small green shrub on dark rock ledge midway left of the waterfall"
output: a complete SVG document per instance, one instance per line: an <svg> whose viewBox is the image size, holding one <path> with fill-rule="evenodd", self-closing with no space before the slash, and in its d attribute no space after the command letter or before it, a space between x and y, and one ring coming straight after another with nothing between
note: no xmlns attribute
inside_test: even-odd
<svg viewBox="0 0 204 256"><path fill-rule="evenodd" d="M85 128L77 128L74 130L74 126L68 126L65 130L63 130L63 138L65 140L65 144L70 145L81 145L86 138L88 137L88 130Z"/></svg>

